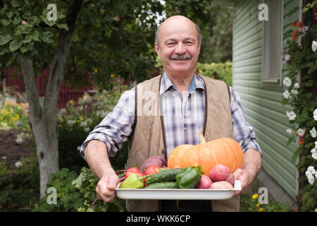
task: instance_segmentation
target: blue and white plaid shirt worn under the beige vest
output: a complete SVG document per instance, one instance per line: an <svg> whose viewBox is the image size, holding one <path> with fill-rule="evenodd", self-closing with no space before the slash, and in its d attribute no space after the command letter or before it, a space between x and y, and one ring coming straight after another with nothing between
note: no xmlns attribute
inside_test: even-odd
<svg viewBox="0 0 317 226"><path fill-rule="evenodd" d="M178 145L200 143L199 131L204 128L204 81L195 74L188 92L182 97L166 73L163 73L160 95L168 91L172 95L164 95L161 98L167 155ZM240 96L232 87L230 87L230 108L235 141L241 145L244 152L249 148L254 148L259 150L262 155L261 148L256 143L253 126L247 123L245 118ZM106 143L108 155L116 155L116 152L123 147L123 142L127 141L132 133L134 115L135 88L132 88L120 96L112 112L89 133L80 147L82 157L85 158L83 151L87 143L92 140Z"/></svg>

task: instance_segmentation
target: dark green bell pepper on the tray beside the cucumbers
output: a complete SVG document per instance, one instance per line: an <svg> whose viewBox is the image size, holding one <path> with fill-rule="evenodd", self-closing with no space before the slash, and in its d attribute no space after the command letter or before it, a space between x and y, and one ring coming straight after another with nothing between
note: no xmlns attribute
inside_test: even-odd
<svg viewBox="0 0 317 226"><path fill-rule="evenodd" d="M199 183L202 174L201 166L186 167L176 174L176 183L180 189L194 189Z"/></svg>

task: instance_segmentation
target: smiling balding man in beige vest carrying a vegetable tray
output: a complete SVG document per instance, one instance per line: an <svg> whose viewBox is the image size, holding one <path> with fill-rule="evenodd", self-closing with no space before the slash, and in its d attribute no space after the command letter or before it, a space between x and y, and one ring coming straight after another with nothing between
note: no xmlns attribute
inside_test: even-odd
<svg viewBox="0 0 317 226"><path fill-rule="evenodd" d="M164 73L128 90L118 104L87 136L80 148L92 171L99 177L97 195L106 202L116 197L118 176L108 156L116 155L123 142L130 142L126 167L140 165L148 157L168 157L178 145L230 137L244 152L242 169L234 172L242 191L261 169L261 148L253 127L247 123L240 96L223 81L199 76L196 64L201 47L200 30L184 16L166 19L156 32L155 49ZM144 114L147 95L156 100L157 114ZM171 94L171 95L170 95ZM126 200L129 211L239 211L240 192L224 201Z"/></svg>

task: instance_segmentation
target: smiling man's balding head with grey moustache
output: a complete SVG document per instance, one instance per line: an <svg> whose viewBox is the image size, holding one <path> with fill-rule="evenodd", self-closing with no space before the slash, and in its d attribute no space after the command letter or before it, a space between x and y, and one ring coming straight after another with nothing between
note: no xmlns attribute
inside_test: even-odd
<svg viewBox="0 0 317 226"><path fill-rule="evenodd" d="M200 51L194 23L178 16L169 18L161 25L155 49L166 73L194 73Z"/></svg>

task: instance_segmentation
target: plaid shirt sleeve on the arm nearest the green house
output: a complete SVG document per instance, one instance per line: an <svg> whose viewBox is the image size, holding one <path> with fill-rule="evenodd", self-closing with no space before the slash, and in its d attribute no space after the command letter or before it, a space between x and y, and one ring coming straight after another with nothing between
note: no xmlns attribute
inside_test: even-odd
<svg viewBox="0 0 317 226"><path fill-rule="evenodd" d="M232 130L235 141L240 144L243 152L249 148L258 150L262 157L263 153L258 143L256 143L256 134L253 126L247 122L242 108L240 95L235 88L230 87L230 107L232 117Z"/></svg>

